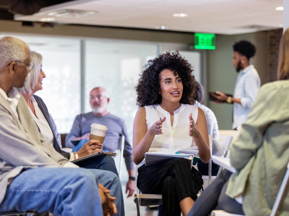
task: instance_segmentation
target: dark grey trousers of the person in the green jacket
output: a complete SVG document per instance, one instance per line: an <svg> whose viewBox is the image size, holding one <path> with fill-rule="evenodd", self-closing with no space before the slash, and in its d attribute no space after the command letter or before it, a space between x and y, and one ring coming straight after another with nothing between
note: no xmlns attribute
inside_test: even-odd
<svg viewBox="0 0 289 216"><path fill-rule="evenodd" d="M231 172L224 169L196 200L187 216L207 216L213 210L244 215L242 205L225 194Z"/></svg>

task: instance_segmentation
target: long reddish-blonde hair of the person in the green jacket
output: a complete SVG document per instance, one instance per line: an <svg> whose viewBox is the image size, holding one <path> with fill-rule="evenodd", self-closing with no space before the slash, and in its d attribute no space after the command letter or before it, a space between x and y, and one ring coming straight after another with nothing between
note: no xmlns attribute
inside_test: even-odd
<svg viewBox="0 0 289 216"><path fill-rule="evenodd" d="M277 80L289 79L289 28L281 38Z"/></svg>

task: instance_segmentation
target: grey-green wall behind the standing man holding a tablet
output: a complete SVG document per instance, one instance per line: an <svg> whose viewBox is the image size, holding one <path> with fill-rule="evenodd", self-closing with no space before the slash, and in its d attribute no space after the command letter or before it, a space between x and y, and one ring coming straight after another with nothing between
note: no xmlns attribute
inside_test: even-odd
<svg viewBox="0 0 289 216"><path fill-rule="evenodd" d="M251 63L260 75L261 84L268 82L267 34L267 32L257 32L242 35L216 35L216 50L208 51L208 91L219 90L228 94L233 93L238 73L232 65L232 46L239 40L249 40L256 46L257 52ZM209 101L208 107L215 113L219 129L231 129L233 105Z"/></svg>

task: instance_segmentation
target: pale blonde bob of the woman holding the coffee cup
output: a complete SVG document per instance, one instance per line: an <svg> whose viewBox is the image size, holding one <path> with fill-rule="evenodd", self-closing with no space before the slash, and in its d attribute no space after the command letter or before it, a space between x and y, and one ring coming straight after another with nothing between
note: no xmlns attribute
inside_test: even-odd
<svg viewBox="0 0 289 216"><path fill-rule="evenodd" d="M29 93L32 94L32 89L35 88L39 73L42 67L42 55L38 52L32 51L31 54L31 63L34 64L34 67L30 71L30 75L25 80L24 86L19 88L18 91L22 94Z"/></svg>

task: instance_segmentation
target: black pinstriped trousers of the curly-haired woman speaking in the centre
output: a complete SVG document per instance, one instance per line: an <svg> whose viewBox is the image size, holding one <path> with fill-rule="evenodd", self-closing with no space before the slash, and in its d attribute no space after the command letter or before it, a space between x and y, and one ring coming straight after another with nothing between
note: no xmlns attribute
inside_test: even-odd
<svg viewBox="0 0 289 216"><path fill-rule="evenodd" d="M184 158L138 168L138 189L143 194L162 194L162 215L180 215L179 202L186 197L196 200L202 185L202 175L195 168L191 170Z"/></svg>

